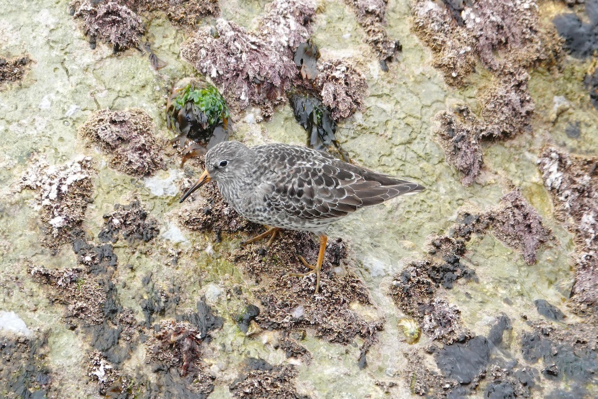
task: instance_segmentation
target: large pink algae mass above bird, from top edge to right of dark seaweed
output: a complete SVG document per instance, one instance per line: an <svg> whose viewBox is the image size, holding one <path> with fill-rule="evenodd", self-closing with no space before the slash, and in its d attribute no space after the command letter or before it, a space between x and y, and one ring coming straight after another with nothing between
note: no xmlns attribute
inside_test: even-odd
<svg viewBox="0 0 598 399"><path fill-rule="evenodd" d="M274 1L257 31L220 19L185 41L181 54L212 79L233 114L254 105L269 118L295 86L315 90L334 120L346 118L363 107L365 77L344 60L329 60L310 72L310 78L317 75L312 86L301 80L293 60L293 51L309 39L315 12L312 1Z"/></svg>

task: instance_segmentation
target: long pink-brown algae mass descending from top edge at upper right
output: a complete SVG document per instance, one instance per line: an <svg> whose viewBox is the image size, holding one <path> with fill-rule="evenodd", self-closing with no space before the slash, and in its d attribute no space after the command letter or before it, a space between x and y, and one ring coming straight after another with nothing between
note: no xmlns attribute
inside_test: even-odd
<svg viewBox="0 0 598 399"><path fill-rule="evenodd" d="M447 84L465 86L477 63L493 75L493 83L477 93L480 133L464 136L469 141L454 148L450 130L436 132L447 161L465 173L462 182L468 185L481 167L475 141L510 138L532 129L535 106L528 70L554 65L562 54L559 41L556 32L539 28L533 0L415 0L412 11L413 31L431 48L432 65L443 72ZM445 125L450 121L449 115L441 118Z"/></svg>

